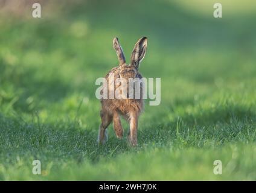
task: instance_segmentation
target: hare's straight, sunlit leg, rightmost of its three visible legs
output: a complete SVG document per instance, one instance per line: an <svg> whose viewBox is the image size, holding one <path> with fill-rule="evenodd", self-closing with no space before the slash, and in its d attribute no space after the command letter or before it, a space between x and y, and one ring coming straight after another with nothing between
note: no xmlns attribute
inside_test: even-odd
<svg viewBox="0 0 256 193"><path fill-rule="evenodd" d="M138 119L139 115L137 112L130 113L130 132L128 138L133 146L137 145Z"/></svg>

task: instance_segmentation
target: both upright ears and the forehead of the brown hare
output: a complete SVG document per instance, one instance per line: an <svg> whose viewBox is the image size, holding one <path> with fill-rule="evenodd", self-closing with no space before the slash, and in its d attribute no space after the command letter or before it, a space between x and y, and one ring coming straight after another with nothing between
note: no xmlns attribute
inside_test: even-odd
<svg viewBox="0 0 256 193"><path fill-rule="evenodd" d="M118 38L115 37L113 40L113 46L117 52L117 57L119 60L120 66L120 75L124 78L134 78L139 69L139 63L144 59L147 49L147 37L141 37L138 42L135 44L132 55L130 57L130 64L126 64L126 58L124 57L123 49L118 41Z"/></svg>

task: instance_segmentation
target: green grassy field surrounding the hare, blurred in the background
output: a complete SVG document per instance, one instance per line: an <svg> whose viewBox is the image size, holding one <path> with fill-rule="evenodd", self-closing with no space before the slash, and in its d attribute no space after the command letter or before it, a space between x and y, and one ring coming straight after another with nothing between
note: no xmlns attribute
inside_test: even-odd
<svg viewBox="0 0 256 193"><path fill-rule="evenodd" d="M40 19L30 5L2 10L0 180L256 180L255 2L219 1L222 19L200 2L46 3ZM147 36L139 71L161 78L136 148L112 125L97 145L95 80L118 63L115 36L127 59Z"/></svg>

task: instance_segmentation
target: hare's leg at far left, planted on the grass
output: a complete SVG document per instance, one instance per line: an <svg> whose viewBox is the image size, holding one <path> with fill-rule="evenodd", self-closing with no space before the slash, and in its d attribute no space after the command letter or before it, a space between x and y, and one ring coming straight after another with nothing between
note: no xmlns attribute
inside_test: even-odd
<svg viewBox="0 0 256 193"><path fill-rule="evenodd" d="M107 127L112 121L112 115L110 115L108 112L101 110L100 116L101 124L100 130L98 131L98 143L104 144L107 141Z"/></svg>

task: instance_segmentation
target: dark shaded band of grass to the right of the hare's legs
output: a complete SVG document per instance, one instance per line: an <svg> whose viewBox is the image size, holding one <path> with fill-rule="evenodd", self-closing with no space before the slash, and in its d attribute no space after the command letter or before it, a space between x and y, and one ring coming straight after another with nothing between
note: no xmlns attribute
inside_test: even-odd
<svg viewBox="0 0 256 193"><path fill-rule="evenodd" d="M194 105L191 100L180 101L176 106L184 103ZM139 141L160 147L166 144L216 147L227 142L255 142L256 113L252 107L226 102L210 109L198 108L195 113L178 115L174 121L152 121L152 125L139 130Z"/></svg>

